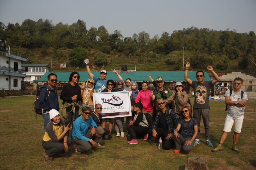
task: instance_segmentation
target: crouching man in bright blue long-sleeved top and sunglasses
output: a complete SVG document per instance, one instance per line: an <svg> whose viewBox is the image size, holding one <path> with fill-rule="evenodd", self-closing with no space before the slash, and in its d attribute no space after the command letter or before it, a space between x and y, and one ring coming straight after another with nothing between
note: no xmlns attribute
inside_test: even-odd
<svg viewBox="0 0 256 170"><path fill-rule="evenodd" d="M105 148L105 146L100 145L104 129L100 126L97 127L91 117L91 112L91 108L85 106L82 108L82 115L75 120L72 138L74 140L75 153L77 154L88 151L92 147L97 149Z"/></svg>

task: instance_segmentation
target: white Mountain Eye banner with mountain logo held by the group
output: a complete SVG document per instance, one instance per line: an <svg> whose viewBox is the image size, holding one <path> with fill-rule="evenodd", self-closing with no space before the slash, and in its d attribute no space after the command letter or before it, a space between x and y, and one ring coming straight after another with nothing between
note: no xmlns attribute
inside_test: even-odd
<svg viewBox="0 0 256 170"><path fill-rule="evenodd" d="M93 93L93 105L102 105L102 118L132 116L131 92Z"/></svg>

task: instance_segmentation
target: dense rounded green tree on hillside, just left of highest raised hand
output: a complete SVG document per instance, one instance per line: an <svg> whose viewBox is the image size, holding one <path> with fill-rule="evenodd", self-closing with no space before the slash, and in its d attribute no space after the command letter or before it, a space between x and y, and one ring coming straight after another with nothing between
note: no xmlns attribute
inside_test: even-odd
<svg viewBox="0 0 256 170"><path fill-rule="evenodd" d="M68 57L72 65L82 65L84 59L87 58L87 51L84 48L74 48L69 51Z"/></svg>

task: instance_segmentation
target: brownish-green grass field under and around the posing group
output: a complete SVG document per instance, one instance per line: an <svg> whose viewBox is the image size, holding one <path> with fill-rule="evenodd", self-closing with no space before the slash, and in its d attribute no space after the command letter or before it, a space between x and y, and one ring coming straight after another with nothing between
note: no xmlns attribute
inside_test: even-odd
<svg viewBox="0 0 256 170"><path fill-rule="evenodd" d="M201 122L201 144L193 147L189 154L174 154L173 149L159 150L154 139L141 139L138 145L128 145L125 137L116 138L113 134L113 140L104 140L105 149L77 155L71 146L68 158L57 157L50 162L42 155L43 118L35 119L33 102L33 96L0 98L0 169L184 169L185 161L191 156L204 157L209 169L256 169L255 100L247 102L238 141L240 153L231 150L232 132L223 151L211 152L212 148L205 144ZM211 141L216 146L226 116L225 103L210 101L210 107Z"/></svg>

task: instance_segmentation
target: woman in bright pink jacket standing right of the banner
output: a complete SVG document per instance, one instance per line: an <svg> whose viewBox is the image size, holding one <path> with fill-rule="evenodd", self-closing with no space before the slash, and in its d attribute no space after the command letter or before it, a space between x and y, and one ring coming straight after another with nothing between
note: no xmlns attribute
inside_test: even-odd
<svg viewBox="0 0 256 170"><path fill-rule="evenodd" d="M151 104L150 94L152 91L148 90L147 82L142 83L142 90L138 93L135 103L141 102L143 105L142 112L148 113L153 117L153 106Z"/></svg>

